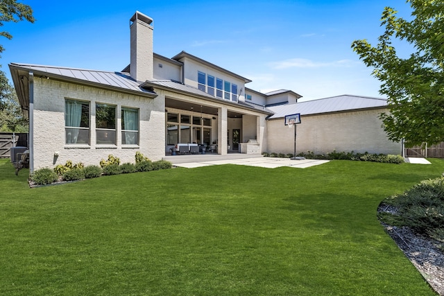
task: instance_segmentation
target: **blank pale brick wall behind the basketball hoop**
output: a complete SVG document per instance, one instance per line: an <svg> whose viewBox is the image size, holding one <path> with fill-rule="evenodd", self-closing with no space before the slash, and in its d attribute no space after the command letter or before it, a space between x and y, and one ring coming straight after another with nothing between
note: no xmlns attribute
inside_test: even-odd
<svg viewBox="0 0 444 296"><path fill-rule="evenodd" d="M302 116L297 126L296 154L336 152L401 154L401 143L389 141L378 118L384 110ZM293 153L294 128L284 119L267 121L268 153Z"/></svg>

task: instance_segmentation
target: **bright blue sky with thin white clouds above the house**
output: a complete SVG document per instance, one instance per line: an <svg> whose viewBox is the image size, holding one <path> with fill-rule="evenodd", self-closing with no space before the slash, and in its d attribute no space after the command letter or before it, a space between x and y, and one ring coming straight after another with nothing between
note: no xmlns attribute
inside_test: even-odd
<svg viewBox="0 0 444 296"><path fill-rule="evenodd" d="M154 19L154 51L187 51L253 80L260 92L291 89L302 100L341 94L379 95L379 81L352 51L353 40L377 43L385 6L410 15L404 0L41 1L34 24L6 23L3 71L10 62L121 71L130 60L129 19Z"/></svg>

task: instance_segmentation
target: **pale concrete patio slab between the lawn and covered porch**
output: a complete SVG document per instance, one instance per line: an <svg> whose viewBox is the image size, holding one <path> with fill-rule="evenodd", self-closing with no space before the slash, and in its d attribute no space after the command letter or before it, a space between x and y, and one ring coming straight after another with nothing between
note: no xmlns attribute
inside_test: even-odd
<svg viewBox="0 0 444 296"><path fill-rule="evenodd" d="M193 158L194 157L194 158ZM294 160L279 157L262 157L259 155L190 155L189 157L165 157L165 160L173 163L173 166L181 168L198 168L201 166L215 166L219 164L238 164L241 166L260 166L262 168L279 168L289 166L291 168L308 168L325 164L328 160L303 159ZM187 162L188 160L188 162ZM185 162L184 162L185 161Z"/></svg>

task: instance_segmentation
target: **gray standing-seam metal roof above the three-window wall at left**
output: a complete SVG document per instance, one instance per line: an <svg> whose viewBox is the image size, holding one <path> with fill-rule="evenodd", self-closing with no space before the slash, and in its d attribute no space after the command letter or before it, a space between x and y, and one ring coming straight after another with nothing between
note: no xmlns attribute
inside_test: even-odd
<svg viewBox="0 0 444 296"><path fill-rule="evenodd" d="M155 92L140 87L142 82L134 80L128 73L53 67L38 64L11 63L9 67L11 72L19 70L33 71L34 76L76 80L76 82L87 85L95 85L98 87L106 86L108 88L120 89L121 91L155 95Z"/></svg>

